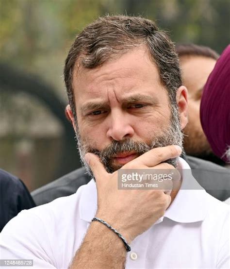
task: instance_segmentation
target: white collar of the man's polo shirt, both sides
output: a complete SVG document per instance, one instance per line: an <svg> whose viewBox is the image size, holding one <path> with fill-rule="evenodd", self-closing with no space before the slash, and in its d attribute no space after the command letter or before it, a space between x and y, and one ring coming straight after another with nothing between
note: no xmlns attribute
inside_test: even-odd
<svg viewBox="0 0 230 269"><path fill-rule="evenodd" d="M206 192L193 177L188 163L182 158L179 159L179 163L180 168L182 168L181 188L172 204L165 211L164 217L181 223L202 221L207 212ZM193 189L186 189L188 183L193 186ZM97 187L94 179L82 186L79 206L80 218L91 222L97 211Z"/></svg>

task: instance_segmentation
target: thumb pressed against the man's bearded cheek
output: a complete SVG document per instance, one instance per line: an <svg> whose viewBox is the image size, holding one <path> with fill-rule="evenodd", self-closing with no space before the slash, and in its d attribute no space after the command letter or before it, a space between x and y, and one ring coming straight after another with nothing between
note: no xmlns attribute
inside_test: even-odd
<svg viewBox="0 0 230 269"><path fill-rule="evenodd" d="M96 180L100 180L100 178L103 178L103 175L107 174L107 171L97 155L93 153L86 153L84 159L91 168Z"/></svg>

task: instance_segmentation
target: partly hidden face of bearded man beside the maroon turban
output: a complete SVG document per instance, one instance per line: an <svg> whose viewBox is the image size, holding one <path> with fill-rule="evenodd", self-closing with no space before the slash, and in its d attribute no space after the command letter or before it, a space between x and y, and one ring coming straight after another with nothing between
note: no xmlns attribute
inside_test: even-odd
<svg viewBox="0 0 230 269"><path fill-rule="evenodd" d="M209 47L195 44L179 44L176 47L181 66L182 83L188 90L188 124L184 129L186 154L224 165L216 157L202 130L199 109L203 87L219 57Z"/></svg>

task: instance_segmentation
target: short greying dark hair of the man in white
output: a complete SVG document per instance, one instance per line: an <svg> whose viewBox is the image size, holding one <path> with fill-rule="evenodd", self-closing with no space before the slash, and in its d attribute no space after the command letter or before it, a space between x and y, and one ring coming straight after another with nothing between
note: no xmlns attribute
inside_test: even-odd
<svg viewBox="0 0 230 269"><path fill-rule="evenodd" d="M95 68L115 55L140 45L146 45L152 61L159 70L161 83L168 91L169 102L177 106L176 93L181 86L181 71L174 43L159 30L154 21L143 17L99 17L77 35L64 68L64 79L69 104L77 122L72 87L76 63L80 67Z"/></svg>

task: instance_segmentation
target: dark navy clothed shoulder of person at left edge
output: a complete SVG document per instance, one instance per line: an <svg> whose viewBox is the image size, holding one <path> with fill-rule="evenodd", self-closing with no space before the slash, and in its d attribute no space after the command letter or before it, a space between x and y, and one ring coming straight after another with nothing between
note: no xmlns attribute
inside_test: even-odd
<svg viewBox="0 0 230 269"><path fill-rule="evenodd" d="M21 210L34 206L33 198L24 183L0 169L0 232Z"/></svg>

